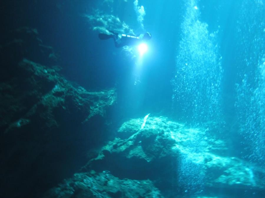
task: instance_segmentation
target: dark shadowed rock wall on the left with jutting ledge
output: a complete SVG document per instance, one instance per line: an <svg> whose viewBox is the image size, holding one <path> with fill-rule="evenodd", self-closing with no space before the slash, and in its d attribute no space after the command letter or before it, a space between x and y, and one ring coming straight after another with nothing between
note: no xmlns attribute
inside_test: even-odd
<svg viewBox="0 0 265 198"><path fill-rule="evenodd" d="M104 141L103 116L116 92L89 92L60 75L57 55L36 29L9 38L0 46L0 197L36 197L79 170L86 151Z"/></svg>

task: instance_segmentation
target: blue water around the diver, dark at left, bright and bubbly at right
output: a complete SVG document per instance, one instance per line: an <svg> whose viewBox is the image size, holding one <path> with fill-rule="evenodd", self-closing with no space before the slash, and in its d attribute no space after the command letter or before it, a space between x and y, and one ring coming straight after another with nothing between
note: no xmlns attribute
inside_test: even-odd
<svg viewBox="0 0 265 198"><path fill-rule="evenodd" d="M128 119L165 116L208 128L226 141L228 156L265 168L264 0L36 2L16 2L11 14L17 20L3 20L4 26L36 27L59 54L69 81L93 91L116 88L117 105L108 118L112 136ZM98 33L106 30L150 32L147 53L100 40ZM175 163L184 189L203 192L204 170L185 157ZM253 197L264 195L251 190Z"/></svg>

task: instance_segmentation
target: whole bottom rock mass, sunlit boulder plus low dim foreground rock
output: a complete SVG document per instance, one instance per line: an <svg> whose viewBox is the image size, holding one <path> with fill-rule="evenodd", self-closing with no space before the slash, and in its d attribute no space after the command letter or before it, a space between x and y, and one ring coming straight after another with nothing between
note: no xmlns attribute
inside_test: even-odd
<svg viewBox="0 0 265 198"><path fill-rule="evenodd" d="M219 188L228 197L234 193L240 197L244 190L250 195L251 190L264 191L265 171L226 155L225 142L216 139L208 130L189 128L165 117L149 117L143 129L142 123L143 119L123 123L117 138L103 146L81 173L49 193L55 197L82 197L86 191L92 197L115 197L113 192L119 194L117 197L195 197L194 193L215 196ZM196 172L191 172L194 170ZM91 171L94 176L89 173ZM106 171L109 176L104 176L105 183L101 182L98 187L98 177ZM89 181L84 177L89 177ZM112 178L115 178L115 185L110 187L108 182ZM135 187L130 184L135 180L141 184L139 192L150 190L152 193L134 192ZM143 181L148 182L148 191ZM80 182L83 183L81 187ZM126 189L121 185L124 182L128 182ZM66 192L69 183L72 187ZM100 190L94 191L94 187ZM79 192L82 196L77 195ZM126 192L131 192L130 196ZM60 196L62 193L68 194Z"/></svg>

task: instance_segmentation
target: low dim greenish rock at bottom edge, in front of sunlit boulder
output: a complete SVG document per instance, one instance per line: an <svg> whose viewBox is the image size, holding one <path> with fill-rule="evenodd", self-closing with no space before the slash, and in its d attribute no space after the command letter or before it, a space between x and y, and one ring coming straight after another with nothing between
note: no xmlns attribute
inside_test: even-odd
<svg viewBox="0 0 265 198"><path fill-rule="evenodd" d="M130 180L114 177L109 171L76 173L58 187L50 189L44 198L56 197L163 197L150 180Z"/></svg>

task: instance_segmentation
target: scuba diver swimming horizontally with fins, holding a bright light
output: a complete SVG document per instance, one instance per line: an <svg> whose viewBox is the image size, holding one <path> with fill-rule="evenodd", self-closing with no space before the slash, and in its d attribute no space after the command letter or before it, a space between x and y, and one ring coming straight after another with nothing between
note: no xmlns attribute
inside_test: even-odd
<svg viewBox="0 0 265 198"><path fill-rule="evenodd" d="M98 37L101 40L107 40L109 38L114 39L115 47L120 48L126 45L137 45L140 44L143 41L150 40L152 38L151 34L149 32L146 32L144 34L140 34L138 36L135 35L128 35L128 34L119 34L110 31L112 34L98 34Z"/></svg>

